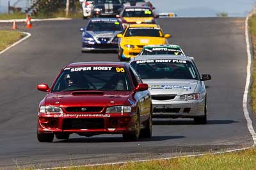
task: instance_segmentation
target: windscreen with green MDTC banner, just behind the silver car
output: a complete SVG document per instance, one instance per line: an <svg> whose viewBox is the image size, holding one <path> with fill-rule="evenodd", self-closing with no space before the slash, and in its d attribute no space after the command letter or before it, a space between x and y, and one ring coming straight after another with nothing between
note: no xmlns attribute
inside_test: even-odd
<svg viewBox="0 0 256 170"><path fill-rule="evenodd" d="M178 48L166 48L166 47L147 47L141 52L141 55L184 55L184 53Z"/></svg>

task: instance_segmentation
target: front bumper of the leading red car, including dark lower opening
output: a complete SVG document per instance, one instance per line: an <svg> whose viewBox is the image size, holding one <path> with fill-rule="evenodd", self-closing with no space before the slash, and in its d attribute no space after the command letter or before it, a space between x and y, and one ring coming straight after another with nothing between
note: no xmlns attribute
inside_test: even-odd
<svg viewBox="0 0 256 170"><path fill-rule="evenodd" d="M38 132L121 134L132 132L135 113L38 113Z"/></svg>

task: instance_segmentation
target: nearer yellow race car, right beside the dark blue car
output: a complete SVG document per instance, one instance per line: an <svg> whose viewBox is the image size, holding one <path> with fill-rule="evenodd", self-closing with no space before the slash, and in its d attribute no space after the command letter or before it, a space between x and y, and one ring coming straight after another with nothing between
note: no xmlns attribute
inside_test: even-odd
<svg viewBox="0 0 256 170"><path fill-rule="evenodd" d="M170 34L163 34L162 29L156 24L128 25L120 38L118 45L118 59L129 60L136 57L145 45L167 45Z"/></svg>

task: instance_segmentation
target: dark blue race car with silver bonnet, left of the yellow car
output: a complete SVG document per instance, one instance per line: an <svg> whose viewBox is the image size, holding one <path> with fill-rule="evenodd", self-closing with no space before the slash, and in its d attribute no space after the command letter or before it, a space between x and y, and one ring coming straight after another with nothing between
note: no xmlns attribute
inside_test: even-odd
<svg viewBox="0 0 256 170"><path fill-rule="evenodd" d="M86 29L80 29L82 52L90 50L117 50L117 34L124 31L122 23L116 18L92 18Z"/></svg>

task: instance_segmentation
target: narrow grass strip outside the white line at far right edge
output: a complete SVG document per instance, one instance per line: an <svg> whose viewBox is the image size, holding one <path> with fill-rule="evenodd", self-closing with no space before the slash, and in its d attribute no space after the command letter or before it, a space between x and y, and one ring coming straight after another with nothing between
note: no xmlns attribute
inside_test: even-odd
<svg viewBox="0 0 256 170"><path fill-rule="evenodd" d="M256 113L256 15L253 15L249 19L250 33L252 36L252 45L253 45L253 74L252 74L252 86L251 86L251 105L253 112Z"/></svg>

